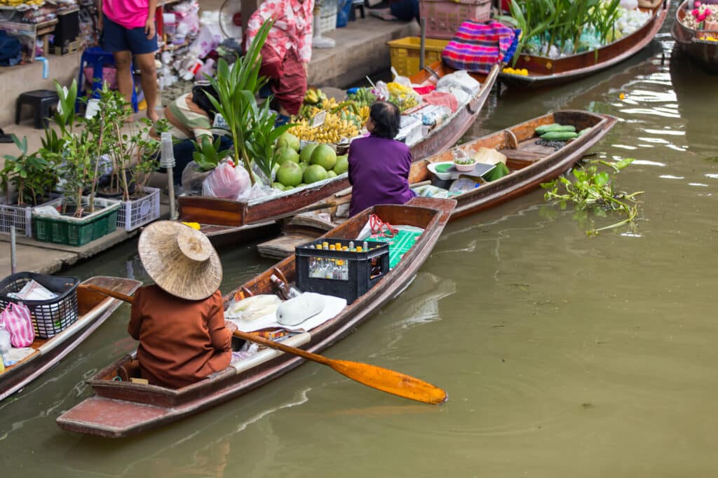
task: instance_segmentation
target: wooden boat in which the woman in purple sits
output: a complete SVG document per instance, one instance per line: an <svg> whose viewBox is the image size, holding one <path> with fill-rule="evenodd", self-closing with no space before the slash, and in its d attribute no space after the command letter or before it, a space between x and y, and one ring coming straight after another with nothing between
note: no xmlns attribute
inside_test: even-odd
<svg viewBox="0 0 718 478"><path fill-rule="evenodd" d="M616 121L612 116L587 111L555 111L417 161L411 165L409 183L429 182L432 179L429 164L452 161L454 150L457 149L465 151L469 156L473 156L481 147L496 149L505 155L509 174L488 184L482 184L470 192L452 196L452 199L457 201L452 214L454 220L510 201L536 189L542 182L559 177L600 141ZM591 129L583 136L569 141L558 151L554 151L554 148L536 144L538 136L534 133L536 127L551 123L572 125L576 127L576 131ZM327 224L334 224L334 222L312 220L309 217L297 222L298 228L294 228L292 222L289 222L289 228L286 230L288 234L259 244L260 256L286 257L294 251L295 245L312 240L322 234ZM314 230L311 225L314 225Z"/></svg>

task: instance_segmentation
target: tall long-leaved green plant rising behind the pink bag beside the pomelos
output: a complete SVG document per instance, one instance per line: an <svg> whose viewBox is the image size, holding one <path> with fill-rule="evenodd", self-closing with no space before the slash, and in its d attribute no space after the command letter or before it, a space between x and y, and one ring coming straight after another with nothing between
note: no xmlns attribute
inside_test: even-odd
<svg viewBox="0 0 718 478"><path fill-rule="evenodd" d="M253 114L256 111L255 95L266 83L266 79L259 76L259 67L261 66L259 53L272 24L271 21L262 24L246 55L231 66L225 60L220 59L217 65L217 75L215 77L206 75L217 92L217 98L213 95L208 95L208 98L218 113L225 118L227 131L234 141L234 158L237 162L240 159L243 162L244 168L249 173L251 184L254 184L255 178L251 169L251 151L249 151L248 141L256 126L256 117Z"/></svg>

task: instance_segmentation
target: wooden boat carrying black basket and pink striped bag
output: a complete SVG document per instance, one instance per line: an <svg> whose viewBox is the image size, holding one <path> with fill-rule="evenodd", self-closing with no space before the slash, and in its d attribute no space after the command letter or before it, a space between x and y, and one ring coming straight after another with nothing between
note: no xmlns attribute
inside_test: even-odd
<svg viewBox="0 0 718 478"><path fill-rule="evenodd" d="M141 285L132 279L116 277L93 277L83 283L91 283L121 294L132 294ZM6 367L5 372L0 374L0 400L17 392L60 362L100 327L121 304L117 299L78 289L78 319L50 339L35 339L30 345L33 351L29 355Z"/></svg>

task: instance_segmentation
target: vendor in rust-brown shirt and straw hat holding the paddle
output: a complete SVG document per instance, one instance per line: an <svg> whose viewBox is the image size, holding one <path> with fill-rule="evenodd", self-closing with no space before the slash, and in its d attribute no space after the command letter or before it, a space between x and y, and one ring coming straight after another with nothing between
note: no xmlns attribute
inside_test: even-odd
<svg viewBox="0 0 718 478"><path fill-rule="evenodd" d="M208 238L158 221L142 232L138 248L154 281L136 291L128 327L139 340L142 378L181 388L228 367L236 326L224 319L222 265Z"/></svg>

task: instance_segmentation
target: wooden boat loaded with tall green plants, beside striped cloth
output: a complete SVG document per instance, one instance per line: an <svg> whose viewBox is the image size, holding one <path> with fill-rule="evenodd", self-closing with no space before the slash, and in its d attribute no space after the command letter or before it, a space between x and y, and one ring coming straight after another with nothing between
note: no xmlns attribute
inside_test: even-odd
<svg viewBox="0 0 718 478"><path fill-rule="evenodd" d="M585 78L606 70L635 55L651 42L663 26L668 15L667 0L658 3L651 11L652 17L643 27L598 50L578 53L563 58L551 59L536 55L521 55L515 68L525 68L528 75L502 72L500 81L517 88L545 88Z"/></svg>

